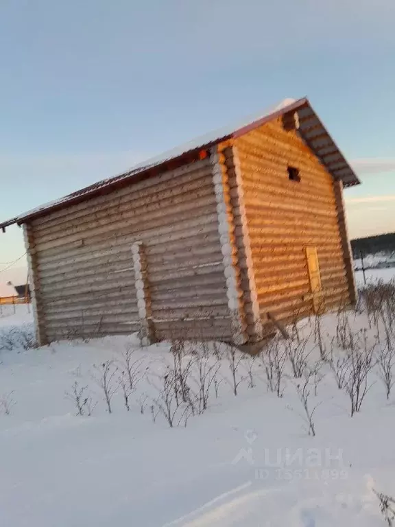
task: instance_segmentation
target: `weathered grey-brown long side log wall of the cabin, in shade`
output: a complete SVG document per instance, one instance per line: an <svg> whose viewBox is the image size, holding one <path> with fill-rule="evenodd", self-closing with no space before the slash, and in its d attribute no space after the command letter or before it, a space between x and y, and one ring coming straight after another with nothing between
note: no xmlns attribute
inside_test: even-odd
<svg viewBox="0 0 395 527"><path fill-rule="evenodd" d="M210 159L54 211L28 231L42 342L140 329L135 242L156 338L232 337Z"/></svg>

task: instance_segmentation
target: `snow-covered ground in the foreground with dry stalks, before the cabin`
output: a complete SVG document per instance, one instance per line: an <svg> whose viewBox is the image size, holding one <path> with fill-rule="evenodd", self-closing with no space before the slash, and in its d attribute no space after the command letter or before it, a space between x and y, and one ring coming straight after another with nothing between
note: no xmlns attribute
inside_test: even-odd
<svg viewBox="0 0 395 527"><path fill-rule="evenodd" d="M0 526L385 526L372 489L395 495L395 386L387 399L376 364L395 349L388 305L302 320L256 358L136 336L23 349L18 306L0 318ZM360 355L369 389L350 417Z"/></svg>

